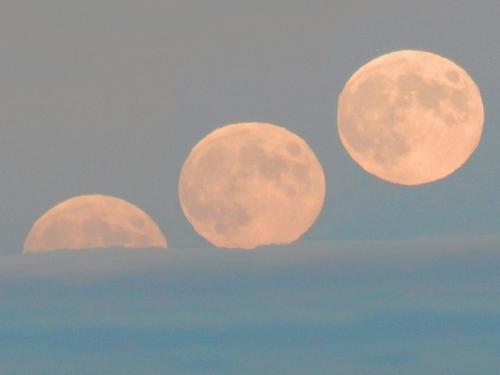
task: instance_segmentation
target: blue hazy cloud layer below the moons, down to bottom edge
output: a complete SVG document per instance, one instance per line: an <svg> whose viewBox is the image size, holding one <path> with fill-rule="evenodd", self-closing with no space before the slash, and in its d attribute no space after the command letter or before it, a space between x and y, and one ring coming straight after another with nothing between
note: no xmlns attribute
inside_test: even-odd
<svg viewBox="0 0 500 375"><path fill-rule="evenodd" d="M493 375L499 245L485 236L4 257L0 370Z"/></svg>

